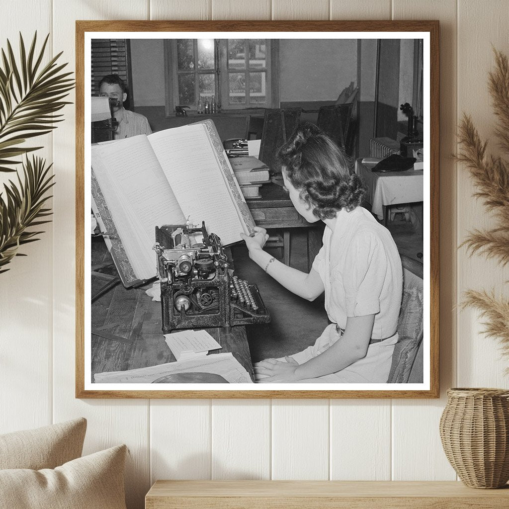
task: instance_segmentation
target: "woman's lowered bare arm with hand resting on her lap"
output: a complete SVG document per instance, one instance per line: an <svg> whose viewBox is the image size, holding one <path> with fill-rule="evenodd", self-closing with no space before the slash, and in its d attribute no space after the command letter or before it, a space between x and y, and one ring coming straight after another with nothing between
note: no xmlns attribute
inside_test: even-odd
<svg viewBox="0 0 509 509"><path fill-rule="evenodd" d="M344 334L325 352L303 364L269 359L259 362L254 373L260 382L284 382L316 378L345 369L366 356L375 315L348 317ZM292 359L289 358L289 361Z"/></svg>

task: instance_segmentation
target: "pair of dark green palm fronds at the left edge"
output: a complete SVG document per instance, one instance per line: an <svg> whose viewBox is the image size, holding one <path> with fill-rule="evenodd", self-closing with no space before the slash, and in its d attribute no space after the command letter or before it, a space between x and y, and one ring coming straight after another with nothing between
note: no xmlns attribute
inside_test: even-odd
<svg viewBox="0 0 509 509"><path fill-rule="evenodd" d="M37 32L26 51L19 34L19 59L16 60L11 43L2 49L0 61L0 173L16 172L13 167L22 161L22 178L4 183L0 193L0 273L15 256L23 256L19 247L38 240L42 231L29 231L50 221L51 209L45 207L54 185L51 164L40 157L26 157L28 152L42 147L25 146L29 138L47 134L62 122L58 114L66 104L64 99L74 88L71 72L63 72L67 64L59 64L60 52L42 64L49 34L36 51Z"/></svg>

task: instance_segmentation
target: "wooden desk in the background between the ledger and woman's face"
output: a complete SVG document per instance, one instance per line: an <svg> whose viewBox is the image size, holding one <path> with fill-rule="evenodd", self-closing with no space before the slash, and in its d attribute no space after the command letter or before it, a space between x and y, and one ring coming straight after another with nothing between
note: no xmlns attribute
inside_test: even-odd
<svg viewBox="0 0 509 509"><path fill-rule="evenodd" d="M247 200L254 222L270 229L283 229L285 264L290 265L290 228L307 228L307 268L322 247L323 222L308 223L296 210L287 192L277 184L264 184L260 188L261 200Z"/></svg>

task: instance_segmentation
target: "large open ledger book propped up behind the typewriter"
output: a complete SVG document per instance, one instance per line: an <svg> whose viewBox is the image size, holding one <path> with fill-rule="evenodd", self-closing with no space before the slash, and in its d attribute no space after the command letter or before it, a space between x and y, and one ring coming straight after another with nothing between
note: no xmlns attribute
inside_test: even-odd
<svg viewBox="0 0 509 509"><path fill-rule="evenodd" d="M254 221L212 120L92 147L92 209L124 286L156 274L155 227L201 225L223 245Z"/></svg>

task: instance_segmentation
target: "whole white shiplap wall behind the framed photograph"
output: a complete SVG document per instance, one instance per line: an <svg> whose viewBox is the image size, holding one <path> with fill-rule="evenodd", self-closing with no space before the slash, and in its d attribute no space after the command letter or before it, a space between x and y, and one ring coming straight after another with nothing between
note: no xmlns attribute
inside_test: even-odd
<svg viewBox="0 0 509 509"><path fill-rule="evenodd" d="M456 151L457 117L489 135L491 44L509 52L505 0L1 0L5 45L21 31L51 33L74 67L76 19L439 19L441 21L441 386L439 400L76 400L74 398L74 109L47 136L54 161L53 223L0 276L0 433L85 416L85 453L129 446L128 506L143 507L156 478L454 479L438 437L444 393L456 384L507 386L506 360L454 306L468 287L507 273L457 251L489 219L470 198ZM5 176L0 175L0 182ZM457 319L458 318L458 319ZM458 324L458 325L457 325ZM458 341L457 341L458 338Z"/></svg>

